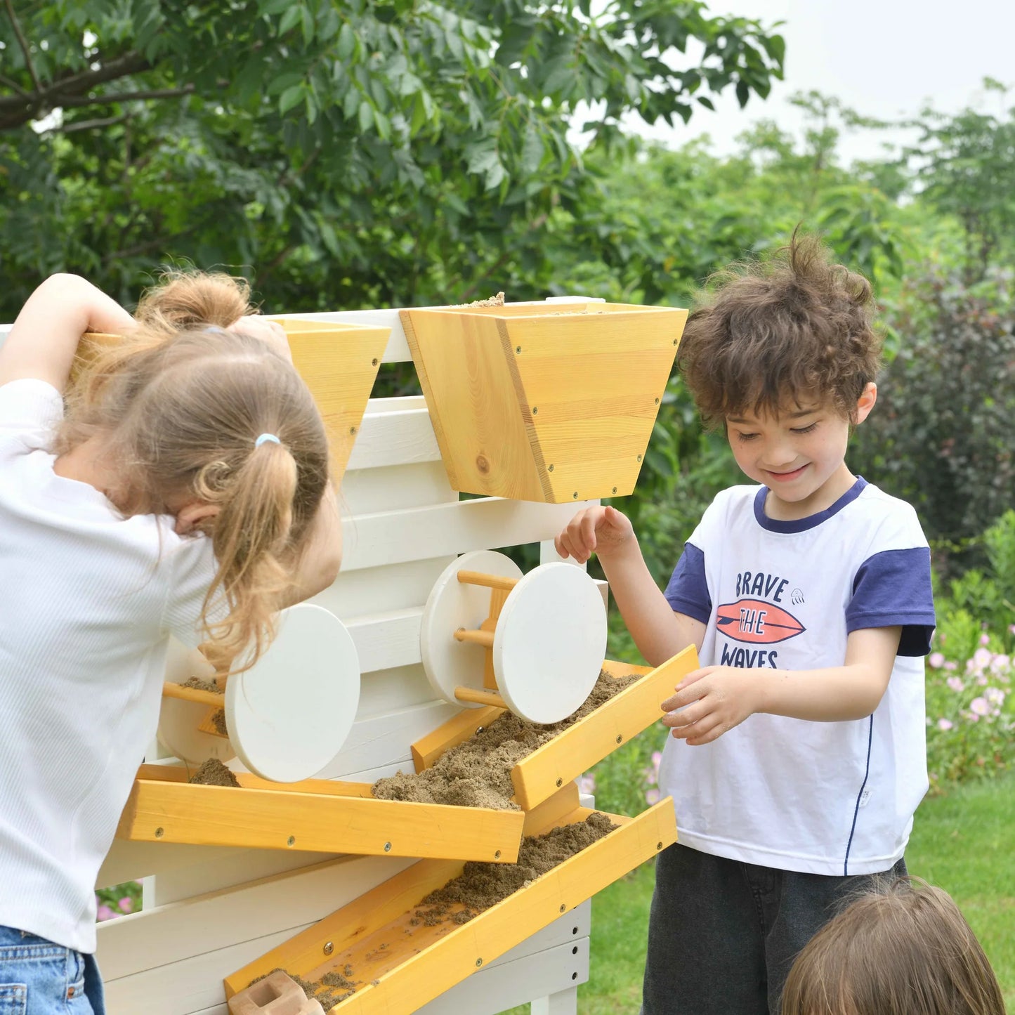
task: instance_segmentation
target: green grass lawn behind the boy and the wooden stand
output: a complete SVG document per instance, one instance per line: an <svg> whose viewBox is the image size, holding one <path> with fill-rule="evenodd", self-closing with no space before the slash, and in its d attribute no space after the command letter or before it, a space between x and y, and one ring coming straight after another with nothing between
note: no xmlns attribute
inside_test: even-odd
<svg viewBox="0 0 1015 1015"><path fill-rule="evenodd" d="M1015 1015L1015 774L925 800L906 863L958 902ZM579 988L580 1015L637 1011L652 887L653 866L645 864L593 900L591 975Z"/></svg>

